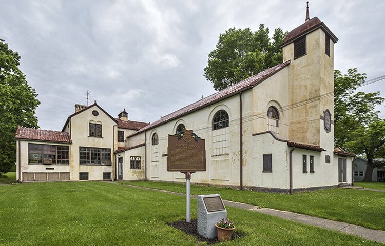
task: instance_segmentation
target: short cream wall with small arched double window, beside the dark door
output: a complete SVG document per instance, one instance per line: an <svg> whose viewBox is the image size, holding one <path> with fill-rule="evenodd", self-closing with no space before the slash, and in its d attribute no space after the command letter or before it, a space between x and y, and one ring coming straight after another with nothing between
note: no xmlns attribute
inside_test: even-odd
<svg viewBox="0 0 385 246"><path fill-rule="evenodd" d="M145 158L144 158L144 146L127 150L116 155L116 162L118 163L118 158L123 157L123 180L144 180L145 179ZM120 155L120 156L119 156ZM140 156L141 157L141 169L130 169L130 157L131 156ZM117 167L117 177L118 177L118 167Z"/></svg>

